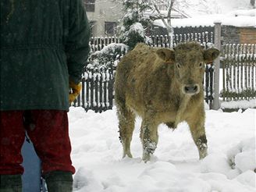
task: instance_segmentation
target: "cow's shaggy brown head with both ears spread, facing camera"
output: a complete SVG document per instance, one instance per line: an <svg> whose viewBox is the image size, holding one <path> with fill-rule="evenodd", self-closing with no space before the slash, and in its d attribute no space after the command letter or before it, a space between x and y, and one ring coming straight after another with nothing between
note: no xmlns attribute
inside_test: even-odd
<svg viewBox="0 0 256 192"><path fill-rule="evenodd" d="M210 63L219 55L219 50L204 50L200 44L190 42L179 44L175 50L159 48L158 57L169 66L169 73L180 82L183 94L198 94L204 78L205 63ZM173 76L173 75L172 75Z"/></svg>

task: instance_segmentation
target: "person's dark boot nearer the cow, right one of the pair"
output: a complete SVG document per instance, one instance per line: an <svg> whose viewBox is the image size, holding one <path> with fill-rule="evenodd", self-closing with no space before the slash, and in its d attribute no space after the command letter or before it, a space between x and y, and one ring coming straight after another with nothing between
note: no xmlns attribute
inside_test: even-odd
<svg viewBox="0 0 256 192"><path fill-rule="evenodd" d="M72 172L53 171L44 175L48 192L72 192Z"/></svg>

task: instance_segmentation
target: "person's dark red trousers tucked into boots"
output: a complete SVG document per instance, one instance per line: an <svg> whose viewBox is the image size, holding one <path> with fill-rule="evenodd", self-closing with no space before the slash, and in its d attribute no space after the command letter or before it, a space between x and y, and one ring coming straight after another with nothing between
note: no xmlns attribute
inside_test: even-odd
<svg viewBox="0 0 256 192"><path fill-rule="evenodd" d="M67 112L27 110L0 112L0 175L23 174L21 148L25 130L41 159L42 172L75 172Z"/></svg>

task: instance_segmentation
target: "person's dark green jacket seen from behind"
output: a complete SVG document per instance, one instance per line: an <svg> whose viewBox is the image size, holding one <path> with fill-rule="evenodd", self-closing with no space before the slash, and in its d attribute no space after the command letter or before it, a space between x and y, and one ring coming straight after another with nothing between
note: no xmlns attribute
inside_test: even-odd
<svg viewBox="0 0 256 192"><path fill-rule="evenodd" d="M90 51L80 0L1 0L0 110L69 109Z"/></svg>

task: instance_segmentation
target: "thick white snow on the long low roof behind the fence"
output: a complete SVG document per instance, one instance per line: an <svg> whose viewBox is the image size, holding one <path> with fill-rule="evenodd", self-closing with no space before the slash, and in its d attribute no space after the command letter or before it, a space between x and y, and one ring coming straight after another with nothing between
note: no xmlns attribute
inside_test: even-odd
<svg viewBox="0 0 256 192"><path fill-rule="evenodd" d="M222 25L235 27L256 27L256 9L237 10L227 14L194 16L192 18L172 19L172 27L214 26L215 21ZM155 25L165 27L162 20L155 20Z"/></svg>

